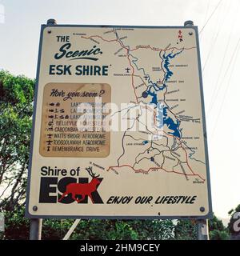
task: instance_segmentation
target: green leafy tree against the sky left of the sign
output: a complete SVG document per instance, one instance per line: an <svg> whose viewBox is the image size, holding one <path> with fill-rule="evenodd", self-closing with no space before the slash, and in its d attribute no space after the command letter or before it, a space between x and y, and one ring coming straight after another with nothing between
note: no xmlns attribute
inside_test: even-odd
<svg viewBox="0 0 240 256"><path fill-rule="evenodd" d="M0 210L26 194L34 80L0 71Z"/></svg>

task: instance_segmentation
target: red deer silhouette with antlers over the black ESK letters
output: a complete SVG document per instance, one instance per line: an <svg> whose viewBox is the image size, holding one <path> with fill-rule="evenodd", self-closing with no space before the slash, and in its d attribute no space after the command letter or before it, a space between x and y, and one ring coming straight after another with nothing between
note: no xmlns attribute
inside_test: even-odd
<svg viewBox="0 0 240 256"><path fill-rule="evenodd" d="M93 168L86 168L87 172L92 177L92 180L89 183L70 183L66 186L66 191L62 194L62 197L58 199L58 202L61 202L62 198L64 198L67 194L72 194L72 198L77 202L82 202L86 196L90 197L91 201L94 203L94 198L92 193L97 190L97 186L100 184L98 179L99 174L93 173ZM76 195L81 195L82 198L76 198Z"/></svg>

